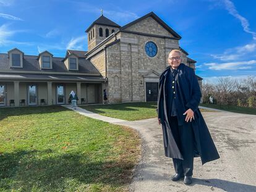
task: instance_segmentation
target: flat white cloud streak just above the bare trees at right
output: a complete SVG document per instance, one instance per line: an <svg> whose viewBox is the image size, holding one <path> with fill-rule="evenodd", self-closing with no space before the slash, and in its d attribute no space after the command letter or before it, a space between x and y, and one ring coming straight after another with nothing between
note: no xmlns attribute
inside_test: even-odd
<svg viewBox="0 0 256 192"><path fill-rule="evenodd" d="M211 70L237 70L237 69L252 69L252 65L256 64L256 60L240 61L240 62L226 62L226 63L207 63Z"/></svg>

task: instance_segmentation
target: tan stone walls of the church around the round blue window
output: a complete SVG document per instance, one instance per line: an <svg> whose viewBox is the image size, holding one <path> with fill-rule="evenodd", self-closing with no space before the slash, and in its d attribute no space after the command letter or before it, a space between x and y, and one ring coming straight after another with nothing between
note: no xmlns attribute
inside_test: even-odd
<svg viewBox="0 0 256 192"><path fill-rule="evenodd" d="M103 26L95 27L98 30ZM158 83L161 72L168 66L169 51L180 49L179 38L174 35L154 17L146 17L125 30L121 28L109 40L98 38L96 44L103 41L98 48L88 48L91 51L87 58L103 77L108 78L105 88L109 102L147 101L146 83ZM148 41L157 46L158 51L154 57L145 52ZM181 51L182 62L195 69L193 60L187 61L187 52L183 49Z"/></svg>

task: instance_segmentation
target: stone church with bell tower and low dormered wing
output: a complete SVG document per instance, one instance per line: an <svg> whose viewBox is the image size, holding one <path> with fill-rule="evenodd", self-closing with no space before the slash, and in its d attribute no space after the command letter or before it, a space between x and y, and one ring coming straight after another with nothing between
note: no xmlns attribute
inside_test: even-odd
<svg viewBox="0 0 256 192"><path fill-rule="evenodd" d="M67 50L64 58L17 48L1 53L0 106L68 104L72 90L78 104L103 103L104 89L110 103L156 101L172 49L195 70L181 36L153 12L122 27L101 14L85 32L88 51Z"/></svg>

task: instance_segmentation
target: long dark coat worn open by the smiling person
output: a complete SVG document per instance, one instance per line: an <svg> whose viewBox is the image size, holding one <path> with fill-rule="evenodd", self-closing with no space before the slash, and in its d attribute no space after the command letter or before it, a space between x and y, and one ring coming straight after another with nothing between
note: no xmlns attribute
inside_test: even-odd
<svg viewBox="0 0 256 192"><path fill-rule="evenodd" d="M179 125L184 128L192 127L195 138L195 157L200 156L202 164L213 161L220 158L218 151L213 143L210 132L208 131L205 120L198 109L198 105L201 99L200 86L198 84L197 77L195 76L194 69L187 67L184 64L180 64L177 68L177 90L176 100L179 101L177 106L177 119ZM159 81L159 92L158 92L158 118L161 119L161 125L163 128L163 141L164 141L164 153L166 157L183 159L179 148L174 140L172 133L172 127L168 120L168 106L166 106L166 99L173 99L172 95L170 98L166 98L166 78L170 72L170 67L167 67L160 76ZM171 81L173 81L171 79ZM187 109L194 111L195 120L192 122L186 122L186 115L183 115Z"/></svg>

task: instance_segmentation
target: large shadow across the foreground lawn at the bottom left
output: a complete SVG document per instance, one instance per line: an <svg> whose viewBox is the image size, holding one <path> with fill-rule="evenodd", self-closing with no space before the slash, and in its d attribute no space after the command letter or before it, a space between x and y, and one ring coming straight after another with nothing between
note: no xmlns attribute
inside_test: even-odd
<svg viewBox="0 0 256 192"><path fill-rule="evenodd" d="M74 190L88 184L118 187L130 182L130 170L134 167L122 160L93 160L86 154L56 156L51 149L3 153L0 165L0 190L22 187L25 191L59 191L69 187Z"/></svg>

